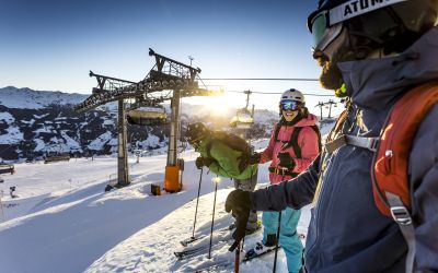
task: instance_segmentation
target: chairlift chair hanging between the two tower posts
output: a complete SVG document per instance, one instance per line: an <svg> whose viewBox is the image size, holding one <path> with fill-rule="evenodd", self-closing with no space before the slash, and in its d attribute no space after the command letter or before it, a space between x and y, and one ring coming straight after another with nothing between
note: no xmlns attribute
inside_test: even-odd
<svg viewBox="0 0 438 273"><path fill-rule="evenodd" d="M135 126L164 126L168 124L168 114L164 108L140 107L127 114L129 124Z"/></svg>

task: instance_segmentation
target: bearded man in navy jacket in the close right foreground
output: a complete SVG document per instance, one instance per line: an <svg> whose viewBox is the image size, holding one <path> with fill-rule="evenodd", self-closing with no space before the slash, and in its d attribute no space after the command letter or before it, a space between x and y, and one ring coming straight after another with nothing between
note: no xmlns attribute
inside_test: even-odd
<svg viewBox="0 0 438 273"><path fill-rule="evenodd" d="M300 176L254 193L235 190L226 202L238 221L250 209L280 211L312 203L308 272L438 271L436 103L418 120L412 143L399 143L410 145L403 156L411 205L391 205L392 217L384 215L377 204L390 203L391 194L373 195L372 185L373 157L381 149L374 143L387 142L380 131L388 128L391 108L414 87L422 94L438 87L437 13L437 0L325 0L308 19L313 57L322 67L320 81L349 99L345 116L328 135L333 141ZM400 168L391 161L400 155L383 152L388 164L381 171ZM242 237L237 232L237 240Z"/></svg>

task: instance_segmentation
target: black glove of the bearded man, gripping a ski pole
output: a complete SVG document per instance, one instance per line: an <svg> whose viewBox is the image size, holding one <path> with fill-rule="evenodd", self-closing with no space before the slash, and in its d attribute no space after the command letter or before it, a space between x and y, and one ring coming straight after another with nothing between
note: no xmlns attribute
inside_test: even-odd
<svg viewBox="0 0 438 273"><path fill-rule="evenodd" d="M235 218L235 230L232 234L234 242L228 249L229 251L233 251L245 237L246 223L252 210L250 194L249 191L233 190L227 197L226 212L232 212L232 216Z"/></svg>

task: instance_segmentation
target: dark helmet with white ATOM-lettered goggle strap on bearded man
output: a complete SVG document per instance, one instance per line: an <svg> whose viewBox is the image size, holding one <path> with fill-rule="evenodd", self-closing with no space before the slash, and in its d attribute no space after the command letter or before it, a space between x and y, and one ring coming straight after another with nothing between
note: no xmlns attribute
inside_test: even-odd
<svg viewBox="0 0 438 273"><path fill-rule="evenodd" d="M438 0L320 0L308 17L313 57L321 57L344 29L356 59L379 48L401 52L435 25L437 13Z"/></svg>

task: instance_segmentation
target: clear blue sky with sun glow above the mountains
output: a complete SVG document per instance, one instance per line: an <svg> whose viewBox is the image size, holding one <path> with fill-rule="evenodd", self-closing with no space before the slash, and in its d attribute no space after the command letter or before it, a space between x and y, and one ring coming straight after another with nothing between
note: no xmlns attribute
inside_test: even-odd
<svg viewBox="0 0 438 273"><path fill-rule="evenodd" d="M0 87L91 94L89 71L129 81L145 79L155 52L201 69L200 79L318 79L307 16L318 1L298 0L0 0ZM276 109L279 94L295 87L331 95L318 82L204 81L222 98L194 104ZM307 97L308 107L330 97ZM313 108L312 108L313 109Z"/></svg>

